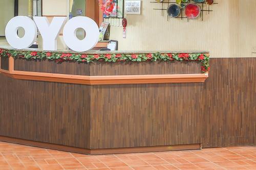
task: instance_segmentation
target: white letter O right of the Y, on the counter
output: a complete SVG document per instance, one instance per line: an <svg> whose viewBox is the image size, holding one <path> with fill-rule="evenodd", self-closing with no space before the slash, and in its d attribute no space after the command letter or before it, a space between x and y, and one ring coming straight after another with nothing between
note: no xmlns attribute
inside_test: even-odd
<svg viewBox="0 0 256 170"><path fill-rule="evenodd" d="M76 30L82 28L86 31L86 37L79 40ZM97 23L86 16L77 16L70 19L63 29L63 39L71 50L85 52L91 50L98 42L99 28Z"/></svg>

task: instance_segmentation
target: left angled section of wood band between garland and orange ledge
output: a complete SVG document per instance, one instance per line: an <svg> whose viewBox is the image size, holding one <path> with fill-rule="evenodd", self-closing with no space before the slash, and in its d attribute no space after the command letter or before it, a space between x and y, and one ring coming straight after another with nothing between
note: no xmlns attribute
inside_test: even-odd
<svg viewBox="0 0 256 170"><path fill-rule="evenodd" d="M27 61L19 58L14 60L14 69L20 71L90 76L89 64L68 61L56 63L48 60Z"/></svg>

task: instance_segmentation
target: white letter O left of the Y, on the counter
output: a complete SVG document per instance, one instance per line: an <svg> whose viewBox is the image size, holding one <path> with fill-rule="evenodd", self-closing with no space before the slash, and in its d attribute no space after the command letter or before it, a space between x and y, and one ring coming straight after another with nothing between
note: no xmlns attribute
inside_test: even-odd
<svg viewBox="0 0 256 170"><path fill-rule="evenodd" d="M20 38L17 35L19 28L25 30L25 35ZM17 49L30 47L36 40L37 29L35 22L27 16L16 16L6 26L5 36L8 43Z"/></svg>

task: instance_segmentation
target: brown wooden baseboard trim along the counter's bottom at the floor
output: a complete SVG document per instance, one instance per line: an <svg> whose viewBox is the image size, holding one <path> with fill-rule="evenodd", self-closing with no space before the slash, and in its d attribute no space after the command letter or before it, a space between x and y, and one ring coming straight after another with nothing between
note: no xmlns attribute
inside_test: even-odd
<svg viewBox="0 0 256 170"><path fill-rule="evenodd" d="M131 147L131 148L109 148L109 149L84 149L69 147L66 145L38 142L32 140L18 139L7 136L0 136L0 141L30 145L33 147L47 148L59 151L74 152L88 155L102 155L102 154L125 154L125 153L142 153L142 152L163 152L163 151L182 151L182 150L200 150L201 143L195 144L177 144L177 145L163 145L152 147Z"/></svg>

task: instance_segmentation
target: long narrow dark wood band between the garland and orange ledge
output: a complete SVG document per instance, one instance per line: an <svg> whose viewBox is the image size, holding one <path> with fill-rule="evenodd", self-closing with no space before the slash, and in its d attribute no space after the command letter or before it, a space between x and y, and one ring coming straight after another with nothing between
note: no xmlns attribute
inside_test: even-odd
<svg viewBox="0 0 256 170"><path fill-rule="evenodd" d="M16 59L14 69L33 72L51 72L57 74L83 76L113 75L166 75L166 74L197 74L201 73L197 62L116 62L116 63L76 63L54 61L26 61Z"/></svg>

